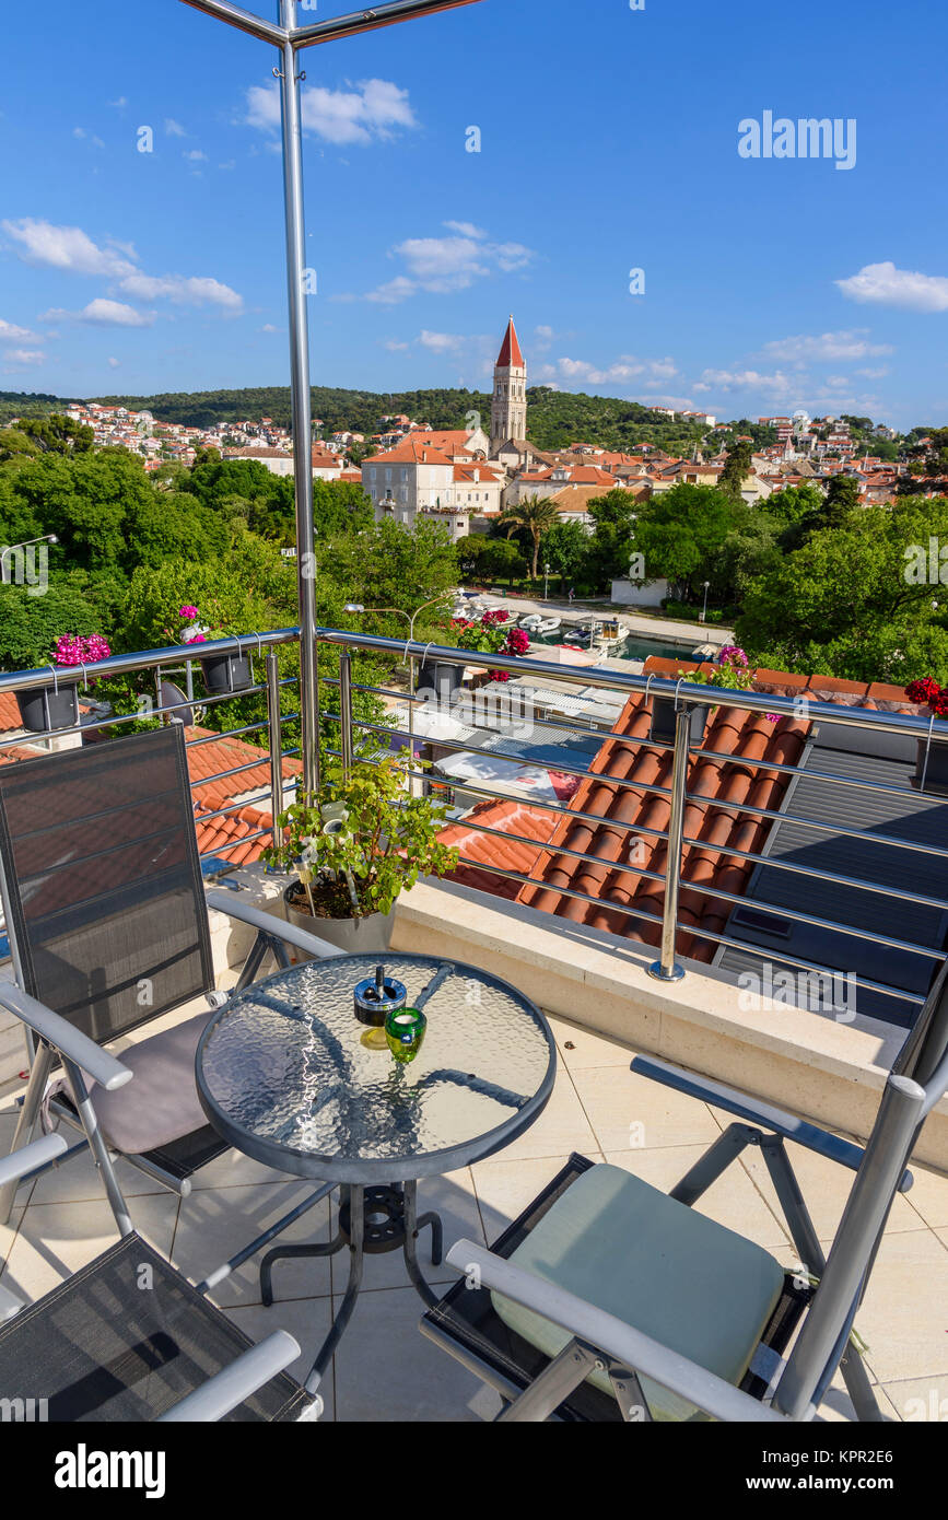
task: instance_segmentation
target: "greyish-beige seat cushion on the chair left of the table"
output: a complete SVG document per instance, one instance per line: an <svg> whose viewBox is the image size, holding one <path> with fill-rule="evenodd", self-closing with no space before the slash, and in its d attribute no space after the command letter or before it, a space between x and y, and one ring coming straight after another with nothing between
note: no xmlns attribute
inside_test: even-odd
<svg viewBox="0 0 948 1520"><path fill-rule="evenodd" d="M196 1014L122 1052L122 1064L134 1072L132 1081L114 1093L97 1085L91 1093L102 1132L111 1146L140 1155L207 1125L194 1084L194 1056L213 1017L210 1011Z"/></svg>

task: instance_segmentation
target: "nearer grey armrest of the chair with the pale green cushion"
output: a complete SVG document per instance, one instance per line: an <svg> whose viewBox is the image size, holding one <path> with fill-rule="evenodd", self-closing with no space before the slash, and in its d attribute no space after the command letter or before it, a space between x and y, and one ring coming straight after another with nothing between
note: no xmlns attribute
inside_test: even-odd
<svg viewBox="0 0 948 1520"><path fill-rule="evenodd" d="M476 1274L482 1287L491 1287L504 1298L514 1298L533 1313L542 1315L544 1319L551 1319L570 1336L603 1351L640 1377L661 1383L716 1420L787 1424L785 1415L761 1404L750 1394L741 1392L740 1388L662 1345L661 1341L643 1335L624 1319L617 1319L615 1315L597 1309L576 1294L568 1294L564 1287L514 1266L512 1262L485 1251L471 1240L453 1245L447 1260L465 1275Z"/></svg>

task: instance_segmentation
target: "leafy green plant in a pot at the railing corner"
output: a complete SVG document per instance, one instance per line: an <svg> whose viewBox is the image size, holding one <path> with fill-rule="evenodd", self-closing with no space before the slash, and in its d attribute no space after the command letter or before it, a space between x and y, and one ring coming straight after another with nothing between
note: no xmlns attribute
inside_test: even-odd
<svg viewBox="0 0 948 1520"><path fill-rule="evenodd" d="M419 876L447 876L457 851L439 841L447 809L409 790L410 755L325 766L316 798L301 798L276 819L263 853L292 876L284 891L290 923L351 955L387 950L398 894Z"/></svg>

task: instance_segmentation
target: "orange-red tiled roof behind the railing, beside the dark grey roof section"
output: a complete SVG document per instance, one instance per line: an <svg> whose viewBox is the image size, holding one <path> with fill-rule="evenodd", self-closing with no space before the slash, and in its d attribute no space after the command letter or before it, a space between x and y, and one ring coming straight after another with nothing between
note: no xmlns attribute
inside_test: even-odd
<svg viewBox="0 0 948 1520"><path fill-rule="evenodd" d="M665 678L688 669L697 667L691 663L658 658L646 664L647 672ZM820 702L918 711L905 702L901 687L881 682L869 686L830 676L808 679L761 669L755 675L755 684L760 690L787 696L808 690ZM515 892L512 883L472 866L462 868L457 879L494 895L515 897L517 901L573 923L656 945L664 910L664 880L650 880L649 874L664 877L667 845L665 841L646 833L638 834L637 830L661 831L668 827L667 795L646 787L665 790L670 787L672 752L653 749L647 743L649 708L644 695L629 699L614 736L596 755L589 778L582 781L570 801L571 813L591 813L602 822L562 815L556 819L550 813L538 816L538 809L523 804L486 804L483 810L471 813L472 822L486 822L492 828L524 834L530 841L539 839L541 847L498 841L494 834L477 834L474 830L465 834L463 821L451 827L448 842L462 845L462 853L472 860L515 869L521 876L530 876L532 882ZM688 775L691 801L685 812L685 838L697 842L687 845L682 856L679 955L705 962L713 959L717 941L702 938L694 930L723 932L732 904L716 897L714 889L740 895L754 869L754 862L741 860L726 850L757 854L770 828L769 819L741 813L740 804L772 812L779 809L788 778L769 771L767 762L796 765L808 730L810 724L802 719L781 717L778 724L772 724L761 713L726 708L719 708L709 720L705 743L702 749L694 751ZM731 758L709 760L705 757L705 749L728 754ZM738 807L719 806L723 803ZM550 818L555 821L551 830ZM548 830L545 841L544 828ZM442 838L447 841L447 834ZM577 860L571 854L564 854L565 850L594 859ZM696 891L696 888L711 891ZM570 897L565 889L582 897ZM649 918L621 912L627 907L641 909Z"/></svg>

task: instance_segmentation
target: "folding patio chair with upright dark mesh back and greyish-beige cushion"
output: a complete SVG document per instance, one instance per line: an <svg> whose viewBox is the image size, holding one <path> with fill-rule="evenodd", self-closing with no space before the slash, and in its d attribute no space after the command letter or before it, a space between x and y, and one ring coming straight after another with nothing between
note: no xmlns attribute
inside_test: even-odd
<svg viewBox="0 0 948 1520"><path fill-rule="evenodd" d="M111 1152L185 1196L191 1175L228 1149L194 1082L198 1041L228 997L214 988L208 906L257 929L237 991L267 952L289 965L284 941L319 959L340 952L235 892L205 895L178 724L0 768L0 886L18 983L0 982L0 1005L23 1020L32 1047L12 1149L32 1138L59 1059L64 1079L46 1108L85 1131L73 1149L90 1145L126 1234L132 1224ZM126 1075L114 1070L102 1046L202 996L208 1011L135 1043L123 1053ZM0 1221L14 1190L0 1189ZM330 1190L311 1195L229 1268Z"/></svg>

